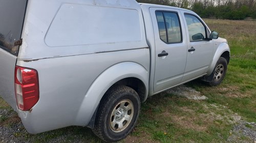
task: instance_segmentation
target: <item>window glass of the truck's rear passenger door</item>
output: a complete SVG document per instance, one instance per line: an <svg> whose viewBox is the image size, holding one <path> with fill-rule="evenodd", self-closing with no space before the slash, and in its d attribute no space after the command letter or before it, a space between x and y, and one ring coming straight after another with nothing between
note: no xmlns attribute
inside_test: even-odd
<svg viewBox="0 0 256 143"><path fill-rule="evenodd" d="M178 14L175 12L156 12L160 39L166 43L182 42Z"/></svg>

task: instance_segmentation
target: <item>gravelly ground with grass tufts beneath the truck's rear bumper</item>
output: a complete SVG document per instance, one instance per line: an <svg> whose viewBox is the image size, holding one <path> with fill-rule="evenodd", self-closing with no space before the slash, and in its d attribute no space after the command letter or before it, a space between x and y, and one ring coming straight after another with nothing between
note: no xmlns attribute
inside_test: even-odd
<svg viewBox="0 0 256 143"><path fill-rule="evenodd" d="M78 132L78 133L77 133ZM88 136L88 137L87 137ZM17 113L12 109L0 109L0 143L29 142L102 142L91 129L86 127L67 127L37 135L29 134ZM47 140L45 140L47 138Z"/></svg>

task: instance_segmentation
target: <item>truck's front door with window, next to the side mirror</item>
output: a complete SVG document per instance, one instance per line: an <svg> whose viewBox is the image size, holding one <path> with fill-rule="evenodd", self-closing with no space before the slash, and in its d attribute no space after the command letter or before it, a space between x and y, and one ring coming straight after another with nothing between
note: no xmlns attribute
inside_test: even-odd
<svg viewBox="0 0 256 143"><path fill-rule="evenodd" d="M188 13L183 13L183 16L187 32L187 62L182 82L186 82L207 72L214 42L207 39L209 30L199 17Z"/></svg>

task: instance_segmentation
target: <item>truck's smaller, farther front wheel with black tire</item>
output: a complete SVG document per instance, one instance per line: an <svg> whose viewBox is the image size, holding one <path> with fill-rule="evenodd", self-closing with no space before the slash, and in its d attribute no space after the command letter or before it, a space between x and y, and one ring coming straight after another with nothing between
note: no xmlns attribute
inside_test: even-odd
<svg viewBox="0 0 256 143"><path fill-rule="evenodd" d="M209 82L210 86L217 86L219 85L222 80L224 79L227 71L227 60L223 57L220 57L217 61L214 70L212 71L211 75L211 82Z"/></svg>

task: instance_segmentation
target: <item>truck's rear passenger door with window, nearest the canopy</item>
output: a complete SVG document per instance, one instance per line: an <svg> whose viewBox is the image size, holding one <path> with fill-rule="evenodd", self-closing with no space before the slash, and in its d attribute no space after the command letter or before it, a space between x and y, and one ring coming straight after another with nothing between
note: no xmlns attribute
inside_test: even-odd
<svg viewBox="0 0 256 143"><path fill-rule="evenodd" d="M181 83L187 55L184 25L175 9L150 9L155 36L154 92Z"/></svg>

